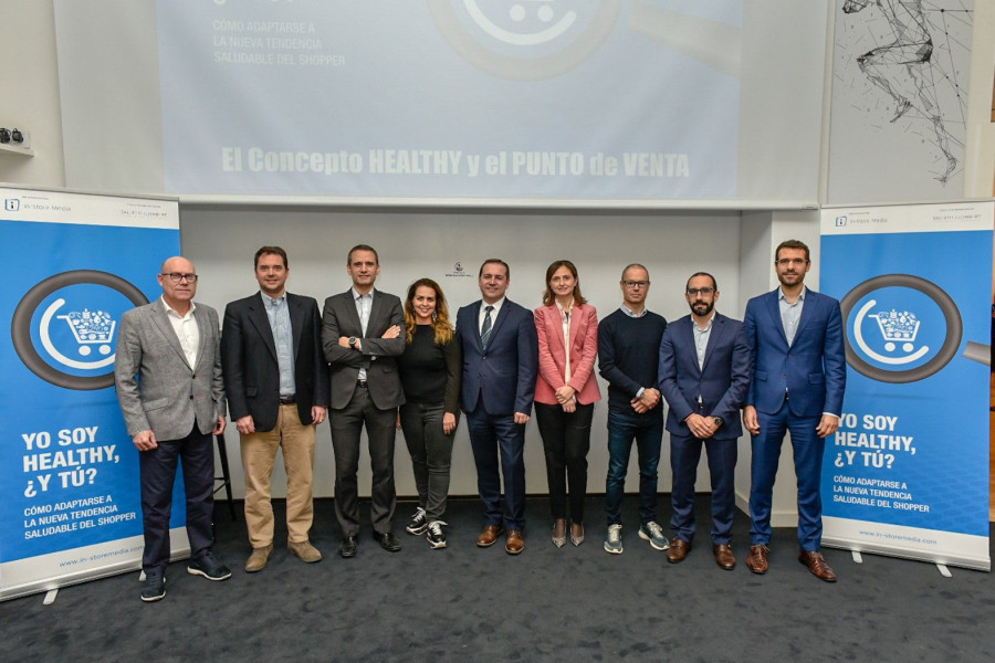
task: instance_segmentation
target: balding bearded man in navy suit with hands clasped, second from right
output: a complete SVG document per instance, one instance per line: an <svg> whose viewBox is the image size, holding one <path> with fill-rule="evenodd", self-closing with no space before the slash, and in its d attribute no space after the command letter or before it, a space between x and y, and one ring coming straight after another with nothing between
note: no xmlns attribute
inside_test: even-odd
<svg viewBox="0 0 995 663"><path fill-rule="evenodd" d="M750 388L750 348L742 323L715 311L719 284L698 272L688 280L684 297L691 315L668 325L660 341L660 392L670 404L670 494L674 539L667 560L677 564L691 551L694 537L694 480L701 446L709 455L712 478L712 554L733 570L733 517L736 509L736 440L743 434L740 406Z"/></svg>

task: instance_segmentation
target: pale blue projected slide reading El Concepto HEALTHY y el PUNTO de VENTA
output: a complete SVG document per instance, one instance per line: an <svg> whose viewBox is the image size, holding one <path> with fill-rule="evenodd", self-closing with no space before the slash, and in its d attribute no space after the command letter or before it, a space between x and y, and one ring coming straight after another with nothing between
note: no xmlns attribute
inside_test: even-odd
<svg viewBox="0 0 995 663"><path fill-rule="evenodd" d="M160 0L167 189L733 196L741 0L701 4Z"/></svg>

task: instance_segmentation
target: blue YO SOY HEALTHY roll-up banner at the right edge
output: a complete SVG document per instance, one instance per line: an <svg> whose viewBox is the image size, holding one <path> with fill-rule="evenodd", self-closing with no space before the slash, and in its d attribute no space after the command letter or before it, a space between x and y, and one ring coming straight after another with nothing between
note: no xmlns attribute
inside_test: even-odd
<svg viewBox="0 0 995 663"><path fill-rule="evenodd" d="M993 203L823 210L847 391L823 462L823 543L991 570Z"/></svg>

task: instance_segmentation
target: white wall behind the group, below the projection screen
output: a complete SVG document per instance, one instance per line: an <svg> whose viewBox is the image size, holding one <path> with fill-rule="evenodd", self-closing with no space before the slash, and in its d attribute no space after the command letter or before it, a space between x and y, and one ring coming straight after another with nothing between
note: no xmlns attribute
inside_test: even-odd
<svg viewBox="0 0 995 663"><path fill-rule="evenodd" d="M649 307L668 319L687 314L682 292L692 273L708 271L721 288L719 308L741 317L740 217L736 212L534 214L482 212L322 211L301 209L184 208L180 231L184 253L201 274L198 301L223 309L224 304L258 290L252 257L263 244L283 246L290 257L289 290L311 295L320 304L328 295L349 287L346 254L358 243L371 244L380 254L377 286L404 297L408 285L421 276L436 278L446 292L451 312L480 298L476 271L491 256L511 265L509 297L527 308L541 304L546 267L558 259L573 261L580 287L604 317L621 303L619 278L631 262L650 270ZM463 266L458 276L455 263ZM151 278L155 270L150 270ZM751 293L755 294L755 293ZM603 394L605 383L601 382ZM608 469L607 406L595 407L588 490L605 490ZM318 429L315 494L332 495L334 466L327 427ZM242 470L238 435L228 436L234 486L241 495ZM660 490L670 490L669 446L660 462ZM365 453L365 452L364 452ZM635 454L633 454L635 459ZM748 463L748 459L746 461ZM413 495L410 459L398 433L396 453L398 493ZM526 486L528 493L545 493L545 460L535 422L526 429ZM702 464L699 490L708 491ZM274 494L282 494L282 466ZM630 477L635 481L635 460ZM360 464L360 492L369 492L369 467ZM630 482L630 490L636 484ZM453 451L453 495L476 494L476 472L461 422Z"/></svg>

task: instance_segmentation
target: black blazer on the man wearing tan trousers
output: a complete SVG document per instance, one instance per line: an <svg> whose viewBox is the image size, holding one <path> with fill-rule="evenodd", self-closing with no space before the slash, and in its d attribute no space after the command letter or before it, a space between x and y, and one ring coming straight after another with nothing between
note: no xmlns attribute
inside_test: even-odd
<svg viewBox="0 0 995 663"><path fill-rule="evenodd" d="M313 297L286 294L294 349L295 399L301 423L311 408L328 407L328 365L322 354L322 320ZM251 414L259 431L276 428L280 367L262 295L232 302L221 327L221 367L232 421Z"/></svg>

